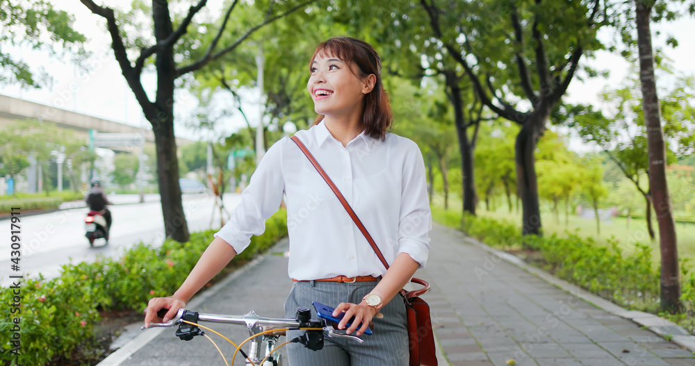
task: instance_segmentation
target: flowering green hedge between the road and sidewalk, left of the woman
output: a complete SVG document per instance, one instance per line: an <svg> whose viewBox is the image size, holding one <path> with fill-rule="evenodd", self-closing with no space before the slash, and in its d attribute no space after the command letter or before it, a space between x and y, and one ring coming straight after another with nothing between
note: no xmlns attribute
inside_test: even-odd
<svg viewBox="0 0 695 366"><path fill-rule="evenodd" d="M265 223L265 233L252 237L250 246L230 265L250 260L286 236L286 222L286 211L279 210ZM100 311L141 312L150 297L172 294L193 269L213 233L213 230L192 233L186 243L165 240L157 248L140 243L128 249L122 258L102 256L93 263L63 265L60 276L51 280L41 276L26 279L19 295L22 317L19 357L9 353L12 319L17 316L10 313L13 289L3 288L0 294L4 304L0 319L2 364L46 365L51 360L70 359L77 349L88 349L95 343L94 328L100 320Z"/></svg>

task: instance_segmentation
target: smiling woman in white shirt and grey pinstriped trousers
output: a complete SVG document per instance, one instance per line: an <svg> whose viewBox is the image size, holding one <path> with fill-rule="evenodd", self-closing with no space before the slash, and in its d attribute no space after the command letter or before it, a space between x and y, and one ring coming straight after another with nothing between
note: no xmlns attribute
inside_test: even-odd
<svg viewBox="0 0 695 366"><path fill-rule="evenodd" d="M234 217L215 233L181 288L172 297L149 301L145 324L162 308L170 309L164 321L174 317L248 246L251 235L263 233L265 219L275 213L284 193L288 274L295 281L285 303L286 317L294 317L297 306L312 308L311 302L318 301L335 306L334 315L345 312L340 329L354 316L346 333L361 335L375 322L373 335L363 344L337 340L317 352L289 344L290 364L407 365L407 319L398 292L425 265L430 250L423 157L414 142L386 132L393 117L373 47L354 38L331 38L318 45L309 69L307 89L319 116L309 130L295 136L360 217L389 270L302 151L283 138L265 153ZM294 336L288 332L288 339Z"/></svg>

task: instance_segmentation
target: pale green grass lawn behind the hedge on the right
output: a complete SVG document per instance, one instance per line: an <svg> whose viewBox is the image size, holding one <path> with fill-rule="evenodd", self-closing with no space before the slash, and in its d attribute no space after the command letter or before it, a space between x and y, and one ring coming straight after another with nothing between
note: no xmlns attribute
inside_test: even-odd
<svg viewBox="0 0 695 366"><path fill-rule="evenodd" d="M434 197L432 204L443 207L443 199ZM521 230L521 208L518 212L509 212L507 203L500 200L497 203L496 210L486 210L484 202L478 204L476 214L486 217L491 217L498 220L507 220L512 223L518 223ZM449 210L461 210L461 200L450 197ZM543 207L541 203L541 223L544 233L557 233L564 235L567 231L577 232L582 237L593 237L598 244L607 244L607 240L615 238L619 242L619 246L626 253L630 253L635 249L635 243L640 242L649 244L653 248L653 259L655 266L660 264L661 253L659 250L659 226L654 219L653 228L656 233L654 241L649 240L645 219L631 219L628 225L628 219L625 217L612 217L610 222L600 222L600 234L596 233L596 219L583 219L575 213L570 213L568 224L565 224L565 215L560 209L559 218L556 219L555 213L551 212L550 208ZM676 224L676 237L678 238L678 257L693 258L691 263L692 269L695 269L695 224Z"/></svg>

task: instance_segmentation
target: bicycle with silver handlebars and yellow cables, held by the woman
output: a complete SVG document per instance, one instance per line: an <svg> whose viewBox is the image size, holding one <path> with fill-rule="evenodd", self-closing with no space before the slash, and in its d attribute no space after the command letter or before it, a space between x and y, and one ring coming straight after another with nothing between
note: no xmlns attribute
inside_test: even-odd
<svg viewBox="0 0 695 366"><path fill-rule="evenodd" d="M322 306L320 303L313 303L315 308ZM324 306L325 307L325 306ZM326 307L327 308L327 307ZM318 310L318 309L317 309ZM162 309L158 312L159 317L163 317L167 310ZM283 319L283 318L271 318L271 317L259 317L256 313L251 310L246 315L221 315L221 314L210 314L210 313L198 313L193 310L179 309L177 315L166 323L151 323L150 328L154 327L172 327L178 325L179 328L176 331L177 337L181 340L192 340L198 335L203 335L205 338L210 340L215 348L220 352L220 356L224 360L224 364L229 366L230 363L227 362L227 358L224 357L224 353L220 350L215 342L208 337L202 330L211 331L219 335L220 337L231 343L236 350L232 356L231 365L234 365L234 360L236 358L236 353L241 353L245 358L245 365L252 366L281 366L282 358L281 353L277 350L283 347L285 344L290 342L298 342L304 344L304 347L311 349L313 351L318 351L323 348L324 344L324 333L329 338L346 338L349 340L354 340L355 342L364 342L361 338L355 335L348 335L345 333L338 333L336 328L334 328L335 319L325 319L322 318L322 313L318 312L319 319L311 319L311 310L306 306L300 306L297 308L297 313L295 319ZM198 322L211 322L211 323L223 323L223 324L234 324L240 326L246 326L249 331L249 338L239 345L235 344L229 340L224 335L214 331L211 328L202 326ZM348 323L349 324L349 323ZM372 324L370 324L371 326ZM143 331L147 328L142 326ZM300 330L306 331L304 334L288 340L282 344L279 344L279 338L284 335L285 331ZM367 332L365 334L368 334ZM259 336L262 336L259 340ZM250 342L248 353L245 353L241 347L244 344ZM264 351L264 356L261 358L261 351Z"/></svg>

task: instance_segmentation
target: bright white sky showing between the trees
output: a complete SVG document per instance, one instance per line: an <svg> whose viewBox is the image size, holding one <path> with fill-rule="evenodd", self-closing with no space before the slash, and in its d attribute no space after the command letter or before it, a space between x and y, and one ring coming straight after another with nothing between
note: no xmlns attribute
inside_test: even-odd
<svg viewBox="0 0 695 366"><path fill-rule="evenodd" d="M97 1L102 3L103 1ZM112 2L113 3L113 2ZM183 2L187 3L187 2ZM221 8L222 1L208 1L209 13ZM44 51L33 51L28 47L11 49L15 54L22 56L34 69L44 69L49 72L54 82L50 86L42 89L22 89L19 85L3 85L0 94L10 97L26 99L38 103L47 104L67 110L74 110L77 113L92 115L116 122L131 124L133 126L144 126L149 128L149 123L142 115L142 110L138 105L133 93L126 85L120 73L113 51L111 51L111 39L106 33L106 22L90 11L78 1L56 1L56 8L66 10L75 16L74 28L84 35L89 41L86 48L92 52L92 57L87 61L89 71L76 67L70 59L58 58L50 59ZM676 72L685 74L695 74L695 43L692 42L692 30L695 29L695 19L692 17L682 17L676 22L653 24L653 44L654 47L661 47L664 53L673 60L673 68ZM661 31L661 35L655 35L655 31ZM676 49L665 46L666 35L676 36L680 45ZM612 37L611 33L601 33L600 37L607 40ZM309 57L309 56L307 56ZM583 56L582 56L583 57ZM630 65L618 55L608 52L596 53L596 58L582 61L598 69L607 69L610 72L608 78L589 78L580 81L575 78L564 97L564 101L569 103L591 103L601 108L597 95L610 86L617 88L623 81L630 69ZM307 76L308 77L308 76ZM149 97L154 96L154 86L156 79L152 74L143 73L143 85ZM669 83L668 78L661 78L660 83ZM259 94L250 91L242 94L243 109L252 124L257 124L259 119ZM309 96L307 95L307 98ZM192 138L194 140L209 140L214 135L228 135L238 128L245 126L245 122L240 115L232 116L220 120L215 133L202 133L195 129L188 128L186 124L195 122L197 99L183 90L178 90L175 95L174 104L175 120L177 121L176 133L179 137ZM228 99L227 99L228 100ZM224 103L218 100L218 103ZM398 122L396 122L398 123ZM560 132L562 129L559 129ZM591 147L582 144L578 138L571 138L569 141L570 149L575 151L589 151Z"/></svg>

